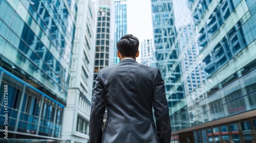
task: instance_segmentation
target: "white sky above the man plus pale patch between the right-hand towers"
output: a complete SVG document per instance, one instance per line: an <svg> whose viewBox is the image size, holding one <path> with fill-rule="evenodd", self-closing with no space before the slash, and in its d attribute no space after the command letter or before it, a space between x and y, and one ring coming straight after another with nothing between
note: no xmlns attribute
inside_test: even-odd
<svg viewBox="0 0 256 143"><path fill-rule="evenodd" d="M191 19L186 0L173 0L175 25L177 28L185 25ZM127 34L136 36L140 43L153 38L151 0L127 0ZM140 51L140 47L139 47ZM140 63L141 57L136 60Z"/></svg>

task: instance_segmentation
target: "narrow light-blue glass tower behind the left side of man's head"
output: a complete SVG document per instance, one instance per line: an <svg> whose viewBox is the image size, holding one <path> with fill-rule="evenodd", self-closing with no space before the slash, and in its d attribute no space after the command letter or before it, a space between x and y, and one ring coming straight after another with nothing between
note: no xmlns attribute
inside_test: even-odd
<svg viewBox="0 0 256 143"><path fill-rule="evenodd" d="M127 2L126 0L115 0L115 40L113 44L113 63L118 64L120 59L117 57L116 43L122 36L127 34Z"/></svg>

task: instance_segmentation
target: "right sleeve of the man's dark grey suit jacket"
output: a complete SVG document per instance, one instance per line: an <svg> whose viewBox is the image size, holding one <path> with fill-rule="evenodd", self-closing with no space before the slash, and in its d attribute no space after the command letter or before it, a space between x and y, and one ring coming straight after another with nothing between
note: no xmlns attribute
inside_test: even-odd
<svg viewBox="0 0 256 143"><path fill-rule="evenodd" d="M169 109L165 97L164 81L158 69L156 77L156 86L153 95L153 107L156 117L157 136L159 142L170 142L172 129L170 127Z"/></svg>

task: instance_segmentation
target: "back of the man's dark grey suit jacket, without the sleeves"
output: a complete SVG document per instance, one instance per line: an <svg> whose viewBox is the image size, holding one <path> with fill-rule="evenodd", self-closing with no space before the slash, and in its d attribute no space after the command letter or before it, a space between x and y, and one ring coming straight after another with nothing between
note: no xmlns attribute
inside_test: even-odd
<svg viewBox="0 0 256 143"><path fill-rule="evenodd" d="M166 101L158 68L123 59L115 66L101 69L98 76L104 89L102 100L108 108L102 142L158 142L152 107L154 100ZM159 86L161 90L156 89L155 93ZM160 108L168 110L167 102ZM169 116L164 116L167 130Z"/></svg>

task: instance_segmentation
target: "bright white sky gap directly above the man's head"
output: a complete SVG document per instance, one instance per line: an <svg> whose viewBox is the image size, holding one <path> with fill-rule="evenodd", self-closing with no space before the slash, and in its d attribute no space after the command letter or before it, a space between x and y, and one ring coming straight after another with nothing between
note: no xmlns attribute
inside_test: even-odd
<svg viewBox="0 0 256 143"><path fill-rule="evenodd" d="M127 0L127 33L136 36L140 43L153 38L151 0ZM139 63L140 58L136 59Z"/></svg>

